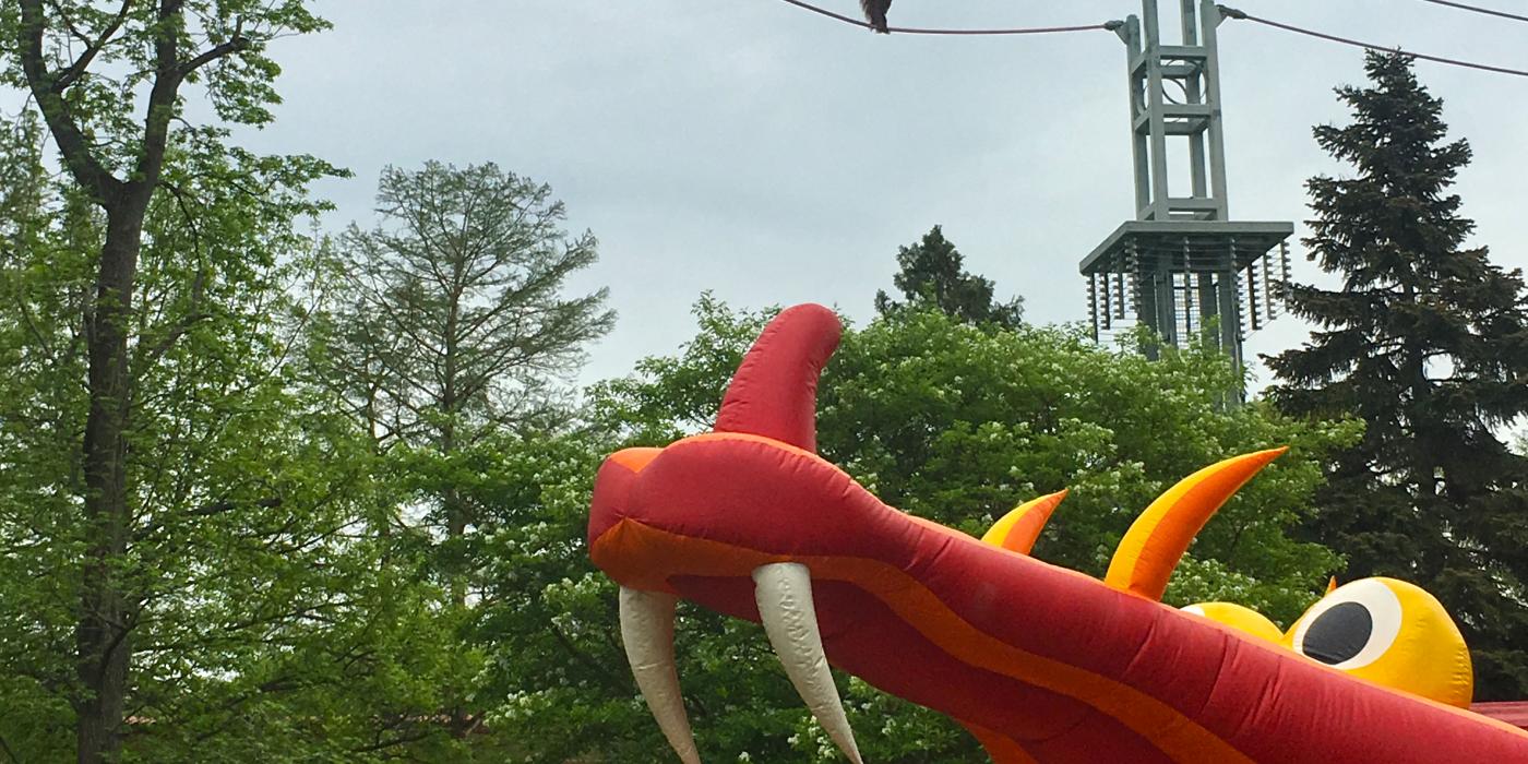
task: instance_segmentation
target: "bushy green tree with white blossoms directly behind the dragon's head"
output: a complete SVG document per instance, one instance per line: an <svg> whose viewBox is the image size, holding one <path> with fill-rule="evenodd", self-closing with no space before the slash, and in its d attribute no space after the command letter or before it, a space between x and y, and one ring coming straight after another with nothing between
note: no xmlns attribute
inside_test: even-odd
<svg viewBox="0 0 1528 764"><path fill-rule="evenodd" d="M494 457L513 469L478 468L490 477L469 490L504 512L478 552L494 561L480 623L494 669L480 694L510 698L490 724L527 741L516 761L666 761L620 651L614 585L587 559L590 475L601 452L709 429L769 315L701 299L700 332L680 354L645 359L590 393L579 442L526 443ZM969 533L1021 500L1071 487L1036 556L1102 575L1137 512L1178 478L1290 443L1210 523L1169 590L1174 604L1230 599L1287 623L1337 559L1285 529L1306 515L1323 454L1357 426L1294 423L1256 405L1225 411L1232 376L1215 351L1146 362L1068 329L981 329L906 310L847 333L819 388L819 448L888 503ZM678 657L706 758L836 761L756 626L681 608ZM943 717L857 680L845 698L866 759L986 761Z"/></svg>

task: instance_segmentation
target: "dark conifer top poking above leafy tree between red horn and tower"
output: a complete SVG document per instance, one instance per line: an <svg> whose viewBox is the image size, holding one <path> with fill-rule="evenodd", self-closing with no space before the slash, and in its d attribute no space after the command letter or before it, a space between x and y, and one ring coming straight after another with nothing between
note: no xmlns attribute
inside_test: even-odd
<svg viewBox="0 0 1528 764"><path fill-rule="evenodd" d="M1007 303L993 298L993 283L966 272L964 257L955 244L944 238L944 231L934 226L923 240L897 249L897 275L891 283L902 292L905 303L891 299L883 290L876 292L876 312L889 315L903 307L932 306L949 316L970 324L996 324L1013 329L1024 318L1024 298Z"/></svg>

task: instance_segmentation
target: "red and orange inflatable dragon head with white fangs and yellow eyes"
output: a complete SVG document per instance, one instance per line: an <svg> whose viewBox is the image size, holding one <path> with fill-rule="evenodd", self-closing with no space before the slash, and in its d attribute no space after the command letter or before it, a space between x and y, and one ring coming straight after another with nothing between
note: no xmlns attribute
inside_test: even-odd
<svg viewBox="0 0 1528 764"><path fill-rule="evenodd" d="M601 466L590 555L620 584L637 686L700 761L674 668L683 597L759 622L850 761L828 665L972 730L998 764L1528 761L1528 733L1462 711L1468 652L1438 602L1366 579L1280 633L1233 604L1158 602L1216 509L1284 449L1225 460L1157 500L1105 581L1028 556L1063 494L984 539L898 512L816 455L837 316L769 324L714 432Z"/></svg>

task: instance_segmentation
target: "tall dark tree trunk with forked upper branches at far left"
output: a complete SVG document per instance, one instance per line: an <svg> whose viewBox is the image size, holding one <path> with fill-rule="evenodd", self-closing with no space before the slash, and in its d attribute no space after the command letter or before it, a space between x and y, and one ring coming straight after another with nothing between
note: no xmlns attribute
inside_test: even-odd
<svg viewBox="0 0 1528 764"><path fill-rule="evenodd" d="M53 70L47 50L49 12L58 28L79 37L64 9L44 0L17 0L15 53L47 128L58 144L64 167L107 212L105 243L96 277L95 312L87 316L90 413L86 417L86 559L79 581L79 619L75 626L81 694L75 698L75 738L81 764L113 761L121 752L122 712L130 663L128 637L136 620L138 599L124 581L130 530L127 486L127 429L131 377L127 341L133 316L133 280L142 251L144 217L159 186L170 124L176 116L180 86L197 69L220 61L252 44L243 37L243 18L234 34L194 57L182 57L185 0L157 0L154 21L130 44L153 47L153 84L148 90L142 141L125 179L112 174L98 154L96 136L83 127L86 108L66 96L102 46L128 23L133 3L124 2L115 26L90 43L67 69ZM145 5L145 3L141 3ZM267 9L269 11L269 9ZM261 15L261 14L257 14ZM131 40L125 34L118 41ZM72 50L66 49L72 53Z"/></svg>

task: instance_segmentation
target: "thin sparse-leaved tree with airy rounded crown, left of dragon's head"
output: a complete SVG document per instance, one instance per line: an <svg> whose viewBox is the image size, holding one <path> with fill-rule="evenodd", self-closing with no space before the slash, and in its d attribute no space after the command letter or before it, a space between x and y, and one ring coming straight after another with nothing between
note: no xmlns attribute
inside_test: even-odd
<svg viewBox="0 0 1528 764"><path fill-rule="evenodd" d="M510 594L486 597L484 587L497 590L484 573L495 552L477 536L535 518L506 515L494 501L500 497L474 486L497 469L527 484L495 490L535 494L535 472L503 472L513 461L494 451L556 448L555 435L516 432L556 422L559 382L614 313L604 289L567 293L567 280L596 261L597 248L591 234L562 229L565 209L547 185L492 163L387 168L377 212L376 228L351 225L336 243L344 298L321 316L313 358L319 377L373 432L402 497L379 530L394 567L443 587L419 590L411 617L432 623L434 649L449 656L422 666L429 694L396 698L379 712L417 721L408 724L416 753L471 738L452 758L492 758L498 741L515 738L483 733L492 701L477 692L487 671L477 623Z"/></svg>

